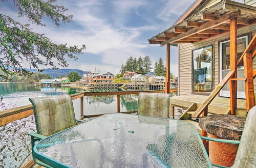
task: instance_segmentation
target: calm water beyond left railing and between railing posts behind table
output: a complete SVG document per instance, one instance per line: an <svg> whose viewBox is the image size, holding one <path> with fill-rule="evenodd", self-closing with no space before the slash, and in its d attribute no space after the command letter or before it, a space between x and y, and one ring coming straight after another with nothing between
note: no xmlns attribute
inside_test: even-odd
<svg viewBox="0 0 256 168"><path fill-rule="evenodd" d="M33 83L0 83L0 91L4 93L4 102L13 103L17 106L30 104L29 97L52 96L60 94L74 94L82 92L80 89L69 87L41 88ZM0 94L1 94L0 93ZM73 101L76 117L80 116L80 100ZM120 96L120 110L131 111L138 108L138 95ZM84 114L103 114L116 112L116 95L108 96L85 96Z"/></svg>

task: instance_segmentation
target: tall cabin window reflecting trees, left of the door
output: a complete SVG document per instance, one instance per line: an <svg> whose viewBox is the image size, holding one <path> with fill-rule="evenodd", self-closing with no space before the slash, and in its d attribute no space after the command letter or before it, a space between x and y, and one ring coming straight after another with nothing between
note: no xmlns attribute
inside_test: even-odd
<svg viewBox="0 0 256 168"><path fill-rule="evenodd" d="M193 50L193 92L212 91L212 45Z"/></svg>

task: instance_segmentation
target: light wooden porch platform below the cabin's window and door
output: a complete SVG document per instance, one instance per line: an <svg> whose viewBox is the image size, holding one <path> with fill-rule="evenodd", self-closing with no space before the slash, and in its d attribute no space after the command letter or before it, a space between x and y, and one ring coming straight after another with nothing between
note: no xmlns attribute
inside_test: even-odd
<svg viewBox="0 0 256 168"><path fill-rule="evenodd" d="M207 95L181 95L170 98L170 105L176 107L182 107L187 109L192 104L196 103L196 108L198 108L206 99ZM196 110L196 109L194 109ZM189 110L187 113L192 115L194 110ZM216 97L208 106L208 113L210 114L229 114L230 106L229 106L229 98L227 97ZM246 117L246 102L245 99L237 99L237 109L236 115L241 117Z"/></svg>

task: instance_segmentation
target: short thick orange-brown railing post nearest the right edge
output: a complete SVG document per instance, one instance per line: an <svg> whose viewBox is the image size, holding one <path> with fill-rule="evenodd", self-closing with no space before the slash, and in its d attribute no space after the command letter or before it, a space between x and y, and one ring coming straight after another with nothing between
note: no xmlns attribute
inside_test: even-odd
<svg viewBox="0 0 256 168"><path fill-rule="evenodd" d="M253 72L252 72L252 57L250 52L244 55L244 77L245 80L245 101L246 110L249 111L255 105Z"/></svg>

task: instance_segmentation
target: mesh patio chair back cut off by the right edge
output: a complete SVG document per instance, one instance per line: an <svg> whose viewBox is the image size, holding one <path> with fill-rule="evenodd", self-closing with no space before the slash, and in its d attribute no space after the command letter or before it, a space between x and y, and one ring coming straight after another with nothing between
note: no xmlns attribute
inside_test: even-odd
<svg viewBox="0 0 256 168"><path fill-rule="evenodd" d="M256 165L256 106L246 118L238 152L232 167L255 167Z"/></svg>

